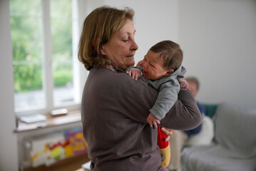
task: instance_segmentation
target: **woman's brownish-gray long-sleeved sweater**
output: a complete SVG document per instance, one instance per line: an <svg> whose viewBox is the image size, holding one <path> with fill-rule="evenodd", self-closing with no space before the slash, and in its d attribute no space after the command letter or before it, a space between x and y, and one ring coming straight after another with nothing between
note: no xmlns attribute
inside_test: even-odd
<svg viewBox="0 0 256 171"><path fill-rule="evenodd" d="M81 117L92 170L164 170L160 166L158 130L150 128L146 120L157 97L157 90L127 73L91 69L83 89ZM160 126L190 130L200 122L193 94L180 90Z"/></svg>

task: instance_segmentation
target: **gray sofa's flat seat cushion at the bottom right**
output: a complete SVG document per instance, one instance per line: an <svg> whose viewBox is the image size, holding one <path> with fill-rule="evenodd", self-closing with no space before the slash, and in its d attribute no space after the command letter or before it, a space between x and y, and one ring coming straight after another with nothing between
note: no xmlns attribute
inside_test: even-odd
<svg viewBox="0 0 256 171"><path fill-rule="evenodd" d="M241 159L220 145L186 147L181 153L183 171L254 171L256 157Z"/></svg>

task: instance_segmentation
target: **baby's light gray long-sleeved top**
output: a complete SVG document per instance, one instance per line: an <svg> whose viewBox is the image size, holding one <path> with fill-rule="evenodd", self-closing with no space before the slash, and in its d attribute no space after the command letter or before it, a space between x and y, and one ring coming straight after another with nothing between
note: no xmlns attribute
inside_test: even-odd
<svg viewBox="0 0 256 171"><path fill-rule="evenodd" d="M131 68L135 67L129 67L126 72ZM143 72L143 68L141 66L139 66L138 69ZM184 77L185 73L186 69L183 66L180 66L169 76L163 76L155 81L145 78L144 75L141 76L143 81L146 81L150 86L155 88L155 90L159 91L158 98L155 100L153 108L149 110L155 118L158 118L158 120L165 118L165 114L168 113L170 108L173 107L175 101L178 99L180 84L177 78Z"/></svg>

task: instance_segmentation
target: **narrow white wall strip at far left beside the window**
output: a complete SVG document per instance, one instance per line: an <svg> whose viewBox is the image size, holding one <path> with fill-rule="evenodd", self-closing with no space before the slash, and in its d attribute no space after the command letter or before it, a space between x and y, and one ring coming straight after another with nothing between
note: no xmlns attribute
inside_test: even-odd
<svg viewBox="0 0 256 171"><path fill-rule="evenodd" d="M9 1L0 0L0 170L18 170Z"/></svg>

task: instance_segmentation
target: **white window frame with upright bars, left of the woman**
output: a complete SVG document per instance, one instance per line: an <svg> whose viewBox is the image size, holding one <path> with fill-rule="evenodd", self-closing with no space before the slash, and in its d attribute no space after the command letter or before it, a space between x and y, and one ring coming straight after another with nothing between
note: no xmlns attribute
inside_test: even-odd
<svg viewBox="0 0 256 171"><path fill-rule="evenodd" d="M31 108L29 110L17 110L16 115L29 115L33 113L41 113L47 115L51 110L66 108L68 111L81 109L81 96L83 93L83 86L86 82L88 72L78 61L78 41L81 35L81 26L86 17L85 6L88 5L85 0L72 0L72 46L73 46L73 90L74 103L71 105L53 106L53 73L52 73L52 46L51 46L51 16L50 16L50 1L42 1L42 15L43 15L43 92L46 97L45 108ZM80 29L79 29L80 27Z"/></svg>

